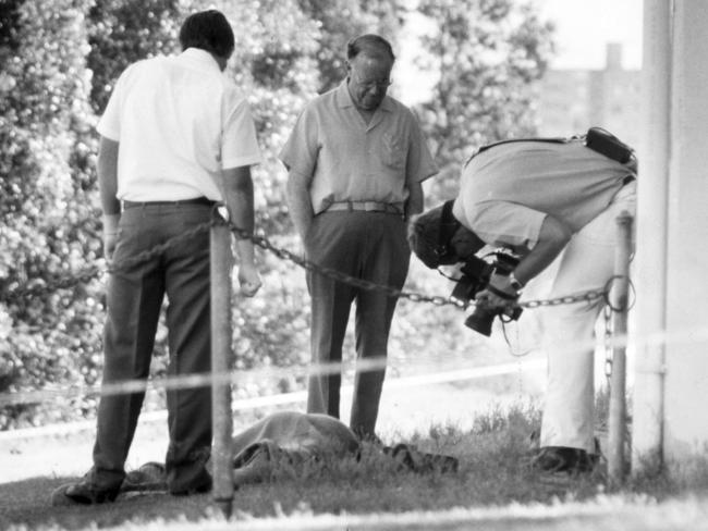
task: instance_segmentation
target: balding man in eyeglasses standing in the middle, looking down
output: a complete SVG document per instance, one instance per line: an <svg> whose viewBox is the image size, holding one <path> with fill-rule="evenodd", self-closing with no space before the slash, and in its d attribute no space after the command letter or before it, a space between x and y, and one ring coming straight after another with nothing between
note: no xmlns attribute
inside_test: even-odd
<svg viewBox="0 0 708 531"><path fill-rule="evenodd" d="M437 168L413 113L387 95L391 45L363 35L349 42L346 57L346 78L305 108L280 153L290 213L309 260L401 288L410 261L406 219L422 211L420 184ZM356 355L368 367L355 376L350 425L375 439L396 297L310 271L307 285L314 363L341 361L356 300ZM310 376L307 411L339 418L341 371L329 372Z"/></svg>

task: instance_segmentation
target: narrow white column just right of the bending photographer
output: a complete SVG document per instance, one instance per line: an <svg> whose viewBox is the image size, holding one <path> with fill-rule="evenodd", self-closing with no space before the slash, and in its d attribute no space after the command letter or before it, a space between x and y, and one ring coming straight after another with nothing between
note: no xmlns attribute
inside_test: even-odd
<svg viewBox="0 0 708 531"><path fill-rule="evenodd" d="M667 233L671 155L671 2L645 0L638 145L636 354L632 470L662 458Z"/></svg>

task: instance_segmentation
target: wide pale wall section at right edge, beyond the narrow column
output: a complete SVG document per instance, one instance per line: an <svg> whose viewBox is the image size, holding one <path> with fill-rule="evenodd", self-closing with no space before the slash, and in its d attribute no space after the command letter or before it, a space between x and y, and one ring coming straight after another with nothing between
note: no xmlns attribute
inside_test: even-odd
<svg viewBox="0 0 708 531"><path fill-rule="evenodd" d="M674 0L673 7L663 416L669 461L705 455L708 447L708 2Z"/></svg>

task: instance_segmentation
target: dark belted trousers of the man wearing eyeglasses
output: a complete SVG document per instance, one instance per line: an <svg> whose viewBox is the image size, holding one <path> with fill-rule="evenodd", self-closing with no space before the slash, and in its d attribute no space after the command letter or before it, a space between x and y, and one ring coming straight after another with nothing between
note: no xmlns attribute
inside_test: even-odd
<svg viewBox="0 0 708 531"><path fill-rule="evenodd" d="M383 212L325 212L314 220L305 242L307 258L351 276L401 288L411 251L405 222ZM357 359L386 359L389 331L398 299L309 272L313 363L342 360L342 343L352 302L356 300ZM361 436L374 436L386 368L357 370L350 427ZM339 418L341 372L313 375L307 412Z"/></svg>

